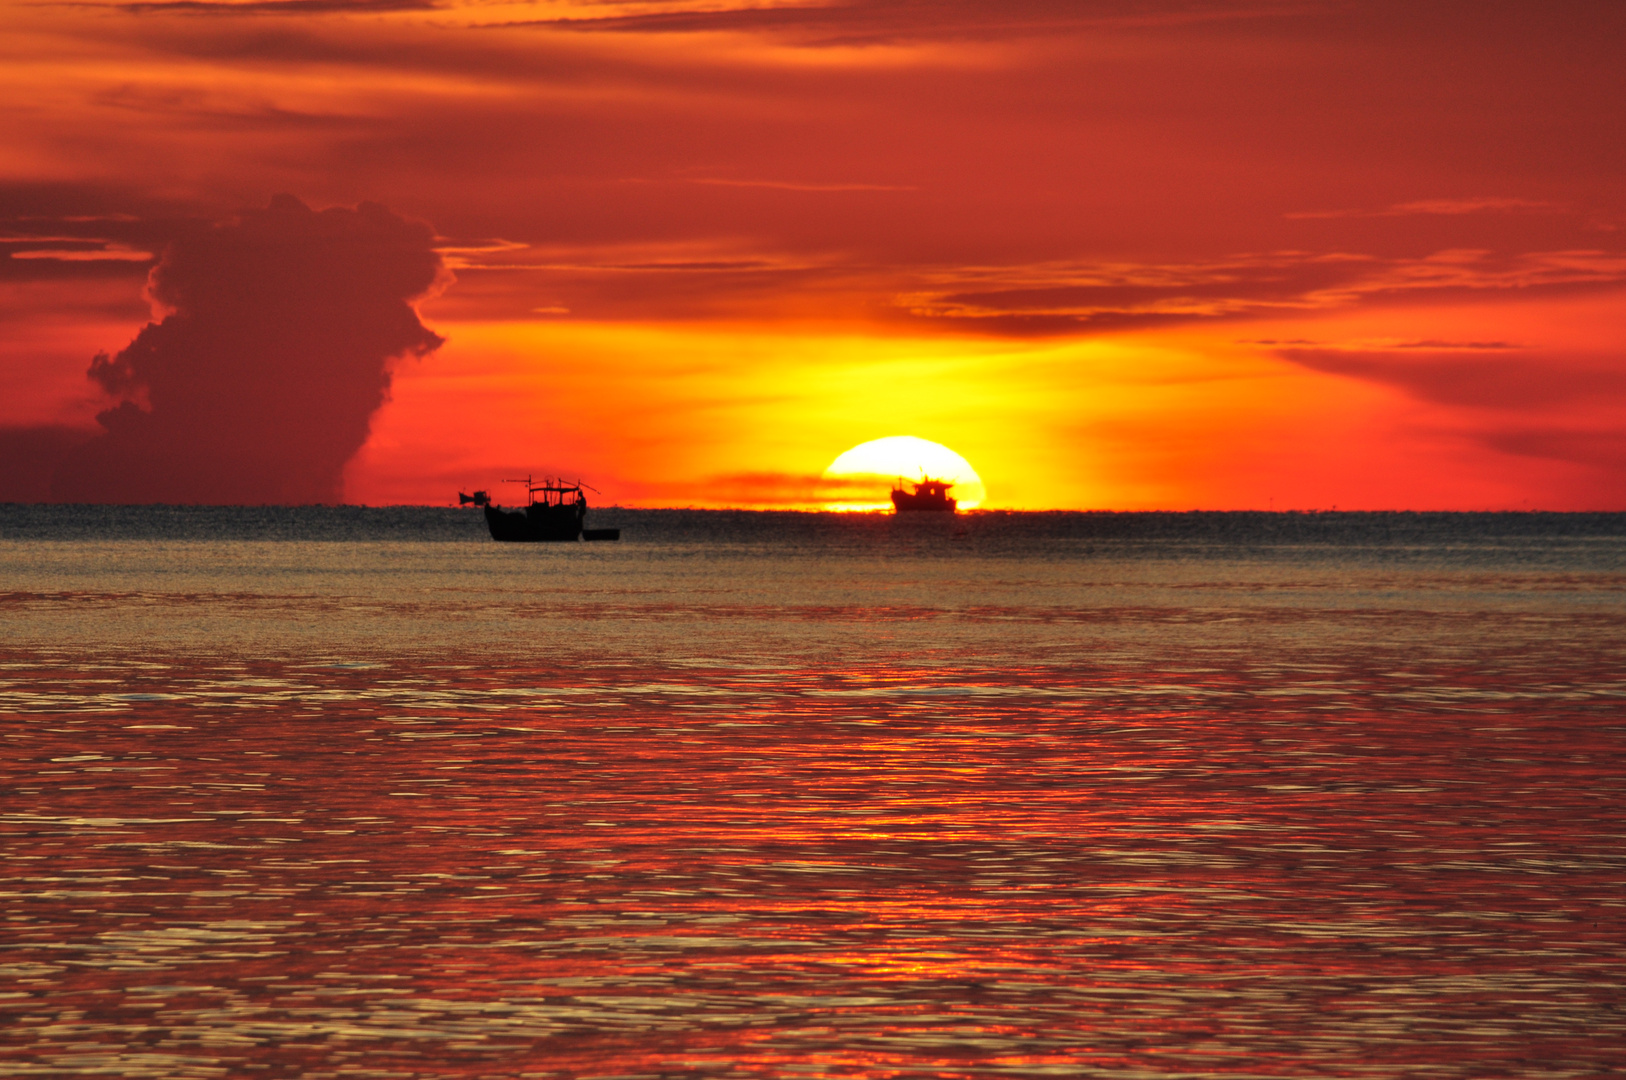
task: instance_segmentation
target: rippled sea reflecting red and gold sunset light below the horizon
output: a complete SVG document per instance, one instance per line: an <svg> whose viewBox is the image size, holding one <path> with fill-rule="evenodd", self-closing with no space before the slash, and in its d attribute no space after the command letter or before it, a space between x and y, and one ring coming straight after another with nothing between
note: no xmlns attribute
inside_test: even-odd
<svg viewBox="0 0 1626 1080"><path fill-rule="evenodd" d="M1626 516L0 506L0 1077L1626 1070Z"/></svg>

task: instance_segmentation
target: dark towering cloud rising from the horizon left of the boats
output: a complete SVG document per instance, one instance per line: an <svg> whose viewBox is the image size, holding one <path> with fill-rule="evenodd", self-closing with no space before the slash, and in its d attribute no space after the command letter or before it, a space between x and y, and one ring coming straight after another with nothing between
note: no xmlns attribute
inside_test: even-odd
<svg viewBox="0 0 1626 1080"><path fill-rule="evenodd" d="M57 468L75 503L333 503L389 364L441 345L411 306L446 275L428 224L291 195L177 237L167 309L89 377L119 400Z"/></svg>

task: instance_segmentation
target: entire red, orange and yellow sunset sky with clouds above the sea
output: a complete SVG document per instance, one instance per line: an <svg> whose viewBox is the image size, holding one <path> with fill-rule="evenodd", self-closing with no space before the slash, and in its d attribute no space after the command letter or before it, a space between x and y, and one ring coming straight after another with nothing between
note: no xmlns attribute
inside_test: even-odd
<svg viewBox="0 0 1626 1080"><path fill-rule="evenodd" d="M1626 509L1626 5L0 0L0 501ZM883 493L885 494L885 493Z"/></svg>

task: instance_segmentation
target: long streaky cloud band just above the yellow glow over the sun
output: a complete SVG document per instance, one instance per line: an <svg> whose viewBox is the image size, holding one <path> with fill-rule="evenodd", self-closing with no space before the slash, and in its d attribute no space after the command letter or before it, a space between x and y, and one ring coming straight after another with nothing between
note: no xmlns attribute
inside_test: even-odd
<svg viewBox="0 0 1626 1080"><path fill-rule="evenodd" d="M1044 337L1371 306L1530 299L1618 288L1626 252L1418 257L1283 250L1192 262L932 265L735 244L493 244L442 249L467 268L439 311L520 317L564 307L597 320L863 312L948 333Z"/></svg>

